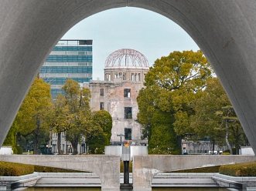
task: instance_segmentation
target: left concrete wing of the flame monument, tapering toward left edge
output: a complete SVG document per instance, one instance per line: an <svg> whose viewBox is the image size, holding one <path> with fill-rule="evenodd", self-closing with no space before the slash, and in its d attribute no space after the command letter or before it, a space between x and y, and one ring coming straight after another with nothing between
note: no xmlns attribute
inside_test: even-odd
<svg viewBox="0 0 256 191"><path fill-rule="evenodd" d="M102 190L119 190L120 186L120 156L6 155L0 161L93 172L100 177Z"/></svg>

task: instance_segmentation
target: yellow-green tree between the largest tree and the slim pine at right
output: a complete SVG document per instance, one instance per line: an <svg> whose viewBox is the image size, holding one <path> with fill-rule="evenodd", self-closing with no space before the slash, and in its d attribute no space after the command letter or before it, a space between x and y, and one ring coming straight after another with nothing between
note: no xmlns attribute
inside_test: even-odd
<svg viewBox="0 0 256 191"><path fill-rule="evenodd" d="M188 130L193 132L194 139L209 138L213 144L213 151L216 144L224 145L225 131L221 126L222 120L216 112L227 102L227 96L225 96L221 85L216 78L213 78L207 81L205 91L201 92L193 103L195 113L190 116Z"/></svg>

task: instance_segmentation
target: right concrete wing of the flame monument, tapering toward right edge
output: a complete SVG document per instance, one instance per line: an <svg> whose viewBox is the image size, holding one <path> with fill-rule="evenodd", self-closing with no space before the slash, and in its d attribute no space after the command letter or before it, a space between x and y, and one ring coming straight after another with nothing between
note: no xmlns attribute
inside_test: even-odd
<svg viewBox="0 0 256 191"><path fill-rule="evenodd" d="M256 156L134 156L132 166L133 190L151 191L153 177L161 172L244 163L255 161L255 159Z"/></svg>

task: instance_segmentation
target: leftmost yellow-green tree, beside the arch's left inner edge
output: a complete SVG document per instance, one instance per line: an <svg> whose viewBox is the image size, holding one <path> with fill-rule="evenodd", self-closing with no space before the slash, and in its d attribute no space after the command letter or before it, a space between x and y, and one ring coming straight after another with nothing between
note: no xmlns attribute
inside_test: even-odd
<svg viewBox="0 0 256 191"><path fill-rule="evenodd" d="M50 86L43 82L43 79L36 78L23 100L11 128L11 132L15 133L12 135L15 136L15 139L20 140L22 137L26 139L26 146L30 139L35 154L39 153L39 144L46 143L49 138L46 116L50 106ZM39 136L40 134L45 136ZM9 137L6 140L8 139Z"/></svg>

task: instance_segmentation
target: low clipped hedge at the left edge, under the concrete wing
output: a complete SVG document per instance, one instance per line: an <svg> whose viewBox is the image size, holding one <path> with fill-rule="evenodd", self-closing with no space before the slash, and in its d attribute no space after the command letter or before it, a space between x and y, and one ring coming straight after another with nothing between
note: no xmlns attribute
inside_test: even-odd
<svg viewBox="0 0 256 191"><path fill-rule="evenodd" d="M34 173L32 165L0 162L0 176L22 176L30 173Z"/></svg>

